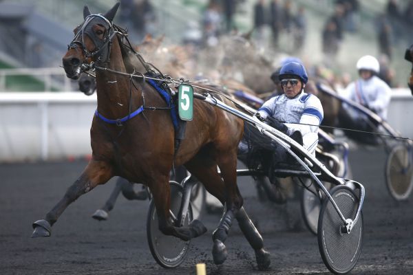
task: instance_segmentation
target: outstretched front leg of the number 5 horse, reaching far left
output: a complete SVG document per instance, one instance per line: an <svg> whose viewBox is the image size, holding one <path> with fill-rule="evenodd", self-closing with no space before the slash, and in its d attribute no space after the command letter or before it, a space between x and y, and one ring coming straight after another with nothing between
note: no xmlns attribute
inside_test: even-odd
<svg viewBox="0 0 413 275"><path fill-rule="evenodd" d="M81 177L74 181L74 184L67 189L63 198L46 214L45 219L33 223L34 231L32 237L50 236L52 225L59 219L70 203L99 184L105 184L112 176L112 166L107 162L92 159L87 164Z"/></svg>

